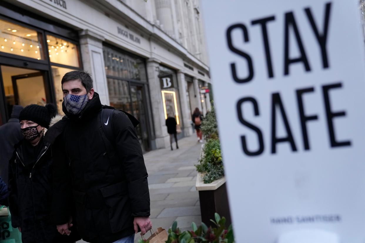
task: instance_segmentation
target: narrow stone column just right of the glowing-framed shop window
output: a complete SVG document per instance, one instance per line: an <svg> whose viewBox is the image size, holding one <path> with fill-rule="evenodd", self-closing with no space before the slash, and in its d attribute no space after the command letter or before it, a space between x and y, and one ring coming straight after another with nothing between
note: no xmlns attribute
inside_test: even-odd
<svg viewBox="0 0 365 243"><path fill-rule="evenodd" d="M181 104L181 115L183 117L183 131L185 137L191 136L192 129L191 129L191 114L188 104L187 95L187 83L185 82L185 74L182 71L177 71L177 82L179 85L179 96L180 96L180 104Z"/></svg>

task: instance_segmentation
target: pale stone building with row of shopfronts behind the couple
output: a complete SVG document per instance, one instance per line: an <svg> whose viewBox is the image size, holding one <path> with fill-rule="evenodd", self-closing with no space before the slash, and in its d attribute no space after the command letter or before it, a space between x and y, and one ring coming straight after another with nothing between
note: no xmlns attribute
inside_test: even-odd
<svg viewBox="0 0 365 243"><path fill-rule="evenodd" d="M61 79L85 70L101 102L133 114L144 151L193 133L191 113L210 110L198 0L5 0L0 2L0 124L13 105L55 103Z"/></svg>

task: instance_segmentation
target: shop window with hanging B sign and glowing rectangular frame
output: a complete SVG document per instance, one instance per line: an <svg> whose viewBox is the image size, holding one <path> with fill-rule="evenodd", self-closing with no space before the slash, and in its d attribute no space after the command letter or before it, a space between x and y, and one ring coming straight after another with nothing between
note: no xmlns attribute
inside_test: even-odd
<svg viewBox="0 0 365 243"><path fill-rule="evenodd" d="M176 72L170 68L160 66L158 77L160 78L165 119L174 117L177 123L176 130L181 133L182 120Z"/></svg>

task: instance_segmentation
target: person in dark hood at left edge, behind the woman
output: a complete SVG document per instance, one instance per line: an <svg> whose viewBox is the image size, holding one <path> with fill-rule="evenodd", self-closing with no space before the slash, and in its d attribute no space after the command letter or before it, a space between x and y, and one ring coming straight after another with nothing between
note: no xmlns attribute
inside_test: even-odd
<svg viewBox="0 0 365 243"><path fill-rule="evenodd" d="M14 146L23 139L19 124L19 114L22 110L23 106L14 105L9 121L0 126L0 177L5 183L8 183L8 164Z"/></svg>

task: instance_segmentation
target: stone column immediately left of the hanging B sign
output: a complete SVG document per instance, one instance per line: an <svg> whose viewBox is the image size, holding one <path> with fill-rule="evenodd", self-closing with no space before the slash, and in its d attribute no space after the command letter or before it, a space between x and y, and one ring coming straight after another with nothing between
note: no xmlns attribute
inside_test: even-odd
<svg viewBox="0 0 365 243"><path fill-rule="evenodd" d="M160 87L160 79L158 78L160 62L156 59L147 60L147 75L150 88L152 114L155 129L156 148L167 148L170 146L170 137L167 133L165 125L164 104L162 101L162 93Z"/></svg>

